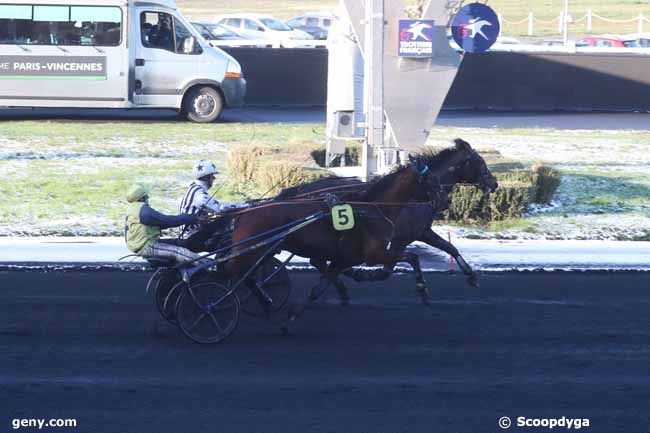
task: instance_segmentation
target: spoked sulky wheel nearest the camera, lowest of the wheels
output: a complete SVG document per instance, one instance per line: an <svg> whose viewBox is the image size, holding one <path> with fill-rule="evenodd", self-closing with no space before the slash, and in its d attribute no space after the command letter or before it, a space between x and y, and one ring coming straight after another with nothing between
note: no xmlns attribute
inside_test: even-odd
<svg viewBox="0 0 650 433"><path fill-rule="evenodd" d="M186 286L176 303L176 319L191 340L218 343L239 323L239 298L222 284L203 281Z"/></svg>

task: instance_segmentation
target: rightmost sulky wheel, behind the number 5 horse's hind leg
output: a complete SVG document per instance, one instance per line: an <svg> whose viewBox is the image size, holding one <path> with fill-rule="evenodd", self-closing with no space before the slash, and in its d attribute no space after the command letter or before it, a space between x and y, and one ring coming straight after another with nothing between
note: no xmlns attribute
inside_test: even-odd
<svg viewBox="0 0 650 433"><path fill-rule="evenodd" d="M268 311L262 306L260 296L253 293L255 290L253 284L261 287L273 301ZM265 260L253 272L250 281L247 281L239 289L239 295L242 298L242 310L251 316L265 316L267 313L280 310L286 304L290 294L291 280L289 279L289 272L282 265L282 262L275 257Z"/></svg>

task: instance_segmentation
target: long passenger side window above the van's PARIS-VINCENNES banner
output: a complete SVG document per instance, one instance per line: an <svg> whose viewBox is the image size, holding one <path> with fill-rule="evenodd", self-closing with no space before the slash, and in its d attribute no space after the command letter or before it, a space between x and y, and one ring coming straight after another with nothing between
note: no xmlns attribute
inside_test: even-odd
<svg viewBox="0 0 650 433"><path fill-rule="evenodd" d="M0 5L0 44L115 47L121 40L118 7Z"/></svg>

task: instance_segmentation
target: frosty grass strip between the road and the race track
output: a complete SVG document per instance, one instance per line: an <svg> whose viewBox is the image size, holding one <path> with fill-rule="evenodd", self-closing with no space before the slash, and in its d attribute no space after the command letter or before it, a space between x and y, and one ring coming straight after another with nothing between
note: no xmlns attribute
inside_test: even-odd
<svg viewBox="0 0 650 433"><path fill-rule="evenodd" d="M488 224L471 215L463 218L464 223L454 223L459 235L648 239L648 134L435 128L428 144L448 146L455 137L485 156L502 186L516 186L522 180L516 173L529 173L521 185L527 188L535 175L526 170L535 165L562 176L549 204L523 206L522 200L526 212L519 218L504 213L507 197L491 199L487 210L477 212L503 215ZM153 185L154 206L175 212L192 164L202 158L221 170L217 198L259 198L278 178L317 175L313 155L322 153L324 143L324 128L315 124L5 122L0 124L0 235L120 235L128 185ZM288 168L279 175L281 161L288 161ZM548 201L542 189L529 196Z"/></svg>

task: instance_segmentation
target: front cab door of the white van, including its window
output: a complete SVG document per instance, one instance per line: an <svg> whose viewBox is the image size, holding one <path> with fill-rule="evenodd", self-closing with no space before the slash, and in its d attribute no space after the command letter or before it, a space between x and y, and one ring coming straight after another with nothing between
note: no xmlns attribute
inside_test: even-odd
<svg viewBox="0 0 650 433"><path fill-rule="evenodd" d="M169 11L139 8L134 21L138 26L134 102L180 108L184 83L200 75L201 46Z"/></svg>

